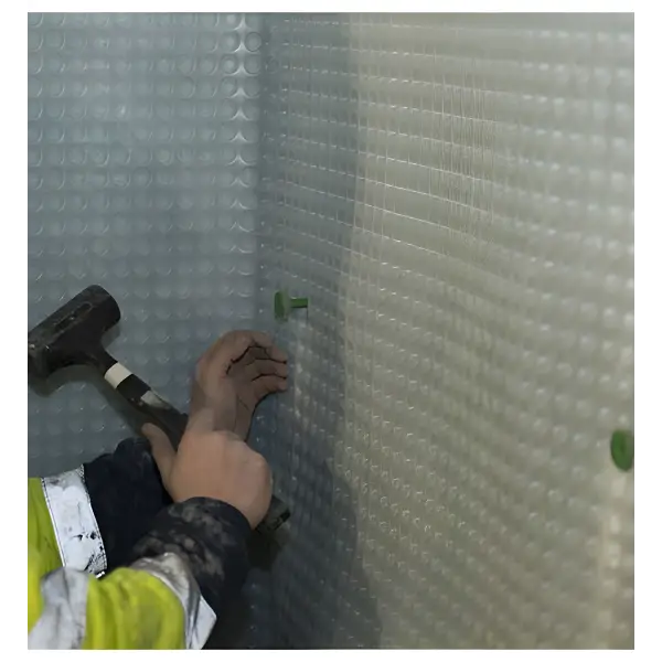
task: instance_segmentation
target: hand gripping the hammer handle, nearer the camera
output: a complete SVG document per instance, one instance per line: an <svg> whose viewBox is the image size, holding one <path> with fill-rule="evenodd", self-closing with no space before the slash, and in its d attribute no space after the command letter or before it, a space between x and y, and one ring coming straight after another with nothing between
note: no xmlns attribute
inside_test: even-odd
<svg viewBox="0 0 662 662"><path fill-rule="evenodd" d="M263 456L234 433L189 429L175 451L168 437L147 424L163 487L173 501L216 499L236 508L255 528L271 501L271 472Z"/></svg>

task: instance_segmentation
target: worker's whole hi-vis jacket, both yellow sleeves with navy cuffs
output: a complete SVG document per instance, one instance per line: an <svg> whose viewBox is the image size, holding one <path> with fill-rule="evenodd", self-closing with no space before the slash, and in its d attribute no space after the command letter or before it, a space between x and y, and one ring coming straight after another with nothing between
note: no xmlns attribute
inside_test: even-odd
<svg viewBox="0 0 662 662"><path fill-rule="evenodd" d="M202 648L238 592L246 519L210 499L170 502L146 462L145 447L128 441L28 479L29 649Z"/></svg>

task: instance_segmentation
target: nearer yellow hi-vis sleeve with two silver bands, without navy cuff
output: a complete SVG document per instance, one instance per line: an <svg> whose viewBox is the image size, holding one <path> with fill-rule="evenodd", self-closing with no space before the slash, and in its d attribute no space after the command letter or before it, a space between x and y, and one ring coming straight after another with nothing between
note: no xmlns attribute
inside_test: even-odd
<svg viewBox="0 0 662 662"><path fill-rule="evenodd" d="M42 574L28 549L29 650L200 649L215 615L185 562L142 559L104 579L61 567Z"/></svg>

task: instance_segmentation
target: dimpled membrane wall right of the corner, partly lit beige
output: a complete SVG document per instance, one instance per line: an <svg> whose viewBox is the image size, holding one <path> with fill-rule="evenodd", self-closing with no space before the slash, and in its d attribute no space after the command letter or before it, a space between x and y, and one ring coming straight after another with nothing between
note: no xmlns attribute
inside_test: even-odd
<svg viewBox="0 0 662 662"><path fill-rule="evenodd" d="M630 648L634 17L269 19L292 647ZM278 446L274 447L274 440Z"/></svg>

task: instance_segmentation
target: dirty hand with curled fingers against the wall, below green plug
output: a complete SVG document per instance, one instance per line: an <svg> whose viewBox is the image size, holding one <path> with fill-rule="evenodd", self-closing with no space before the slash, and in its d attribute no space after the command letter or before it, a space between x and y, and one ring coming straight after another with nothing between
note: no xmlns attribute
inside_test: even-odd
<svg viewBox="0 0 662 662"><path fill-rule="evenodd" d="M257 404L287 388L287 356L259 331L232 331L200 359L191 392L189 429L248 437Z"/></svg>

